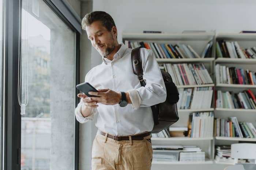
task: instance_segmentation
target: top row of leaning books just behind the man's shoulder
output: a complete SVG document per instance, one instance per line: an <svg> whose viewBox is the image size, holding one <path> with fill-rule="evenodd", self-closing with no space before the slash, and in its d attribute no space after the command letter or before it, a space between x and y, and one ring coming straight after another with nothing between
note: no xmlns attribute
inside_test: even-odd
<svg viewBox="0 0 256 170"><path fill-rule="evenodd" d="M164 43L145 43L143 41L128 41L125 40L125 46L128 48L136 48L142 46L147 49L151 49L156 58L207 58L211 57L212 41L210 41L201 56L190 46L177 43L164 44Z"/></svg>

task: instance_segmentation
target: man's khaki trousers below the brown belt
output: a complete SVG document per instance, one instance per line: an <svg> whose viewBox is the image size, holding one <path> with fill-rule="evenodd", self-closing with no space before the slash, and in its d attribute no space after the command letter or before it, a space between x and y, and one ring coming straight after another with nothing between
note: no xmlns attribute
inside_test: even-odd
<svg viewBox="0 0 256 170"><path fill-rule="evenodd" d="M150 170L153 154L150 138L148 135L143 140L131 140L130 136L129 141L116 141L97 133L93 141L91 169Z"/></svg>

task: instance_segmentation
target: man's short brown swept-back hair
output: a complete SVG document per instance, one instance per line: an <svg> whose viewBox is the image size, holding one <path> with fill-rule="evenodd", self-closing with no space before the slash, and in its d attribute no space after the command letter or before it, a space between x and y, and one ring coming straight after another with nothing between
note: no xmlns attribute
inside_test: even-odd
<svg viewBox="0 0 256 170"><path fill-rule="evenodd" d="M112 30L112 27L115 26L116 24L113 20L113 18L106 12L104 11L93 11L90 13L87 13L82 20L82 29L86 30L86 26L90 26L91 23L94 21L101 21L102 25L108 29L108 31Z"/></svg>

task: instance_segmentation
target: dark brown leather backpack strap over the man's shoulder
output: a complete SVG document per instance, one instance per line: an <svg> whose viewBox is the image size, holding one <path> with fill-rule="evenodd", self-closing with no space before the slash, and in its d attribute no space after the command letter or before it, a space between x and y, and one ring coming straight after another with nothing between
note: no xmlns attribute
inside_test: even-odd
<svg viewBox="0 0 256 170"><path fill-rule="evenodd" d="M138 76L141 86L146 86L146 82L143 79L143 68L142 68L142 61L140 58L140 48L137 47L132 50L131 60L132 60L132 69L133 73Z"/></svg>

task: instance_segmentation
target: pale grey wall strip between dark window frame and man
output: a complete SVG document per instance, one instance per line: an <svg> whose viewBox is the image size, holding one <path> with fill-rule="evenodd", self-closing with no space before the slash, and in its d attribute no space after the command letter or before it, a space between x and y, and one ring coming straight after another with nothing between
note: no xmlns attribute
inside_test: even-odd
<svg viewBox="0 0 256 170"><path fill-rule="evenodd" d="M93 9L92 0L68 0L68 2L81 19ZM93 59L91 55L91 42L88 40L85 31L82 31L80 40L80 83L82 83L84 82L86 73L93 67ZM91 146L97 131L95 120L93 122L79 124L79 129L79 170L89 170L91 169Z"/></svg>

